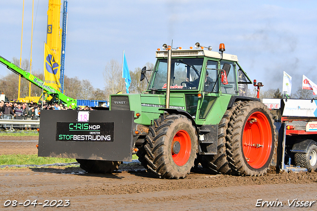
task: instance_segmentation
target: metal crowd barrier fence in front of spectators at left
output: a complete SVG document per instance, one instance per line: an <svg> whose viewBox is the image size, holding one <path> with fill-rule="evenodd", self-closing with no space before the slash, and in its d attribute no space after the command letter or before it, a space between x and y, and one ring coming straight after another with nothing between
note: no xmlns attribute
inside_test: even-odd
<svg viewBox="0 0 317 211"><path fill-rule="evenodd" d="M11 115L11 114L2 114L0 116L0 127L6 130L15 130L15 129L35 129L40 126L40 117L39 116L30 116L30 115Z"/></svg>

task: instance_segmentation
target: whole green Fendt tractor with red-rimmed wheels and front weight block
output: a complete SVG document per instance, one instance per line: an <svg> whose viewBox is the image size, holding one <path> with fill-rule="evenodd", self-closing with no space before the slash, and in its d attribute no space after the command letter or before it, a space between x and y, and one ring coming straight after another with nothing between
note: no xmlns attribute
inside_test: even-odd
<svg viewBox="0 0 317 211"><path fill-rule="evenodd" d="M63 145L63 151L53 150L51 154L41 154L39 147L39 156L77 158L88 172L108 173L117 169L121 161L131 160L136 152L148 171L168 179L184 178L198 163L215 173L266 173L274 163L277 143L270 111L260 99L244 93L243 88L247 89L252 82L236 55L223 53L223 44L219 52L205 50L199 43L195 47L174 50L163 45L163 50L156 53L157 62L147 91L111 95L108 111L90 113L89 122L97 122L100 116L104 116L103 121L114 122L110 131L112 143L99 143L97 147L86 140L87 144L81 141L77 147ZM141 80L147 79L147 71L142 69ZM95 119L94 112L100 112ZM52 130L56 122L46 127L47 131ZM122 133L128 138L118 138ZM52 135L56 137L54 143L59 141L57 134ZM40 130L41 139L44 138ZM74 140L70 137L68 141ZM123 152L126 145L128 150ZM92 150L86 155L79 153L87 149ZM96 156L97 151L103 153Z"/></svg>

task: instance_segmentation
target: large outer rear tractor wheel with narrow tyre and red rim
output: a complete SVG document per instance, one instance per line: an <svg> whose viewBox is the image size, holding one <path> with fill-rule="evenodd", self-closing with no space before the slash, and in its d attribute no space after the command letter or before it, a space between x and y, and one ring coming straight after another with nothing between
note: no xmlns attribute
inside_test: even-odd
<svg viewBox="0 0 317 211"><path fill-rule="evenodd" d="M261 176L276 153L277 134L272 115L258 101L240 102L233 115L232 136L227 139L227 157L239 175Z"/></svg>

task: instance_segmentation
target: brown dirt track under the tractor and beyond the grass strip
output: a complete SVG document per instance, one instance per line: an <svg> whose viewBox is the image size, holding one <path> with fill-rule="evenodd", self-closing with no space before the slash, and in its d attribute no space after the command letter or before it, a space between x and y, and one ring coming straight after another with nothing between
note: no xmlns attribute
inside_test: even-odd
<svg viewBox="0 0 317 211"><path fill-rule="evenodd" d="M0 141L0 154L36 154L36 142ZM35 149L34 149L35 148ZM120 166L113 174L85 173L78 166L0 169L0 208L7 200L44 203L63 200L67 210L268 210L257 202L276 202L278 210L298 210L288 205L314 201L305 210L317 210L317 173L268 173L262 177L212 175L198 170L185 179L157 179L139 163ZM258 200L263 201L258 201ZM7 201L7 203L9 203ZM54 201L53 201L54 203ZM280 204L283 206L280 206ZM53 205L53 204L52 204ZM295 204L296 205L296 204ZM300 205L300 204L299 204ZM6 210L21 210L23 204ZM41 210L43 205L36 205ZM34 207L29 206L29 209ZM46 210L55 210L46 207Z"/></svg>

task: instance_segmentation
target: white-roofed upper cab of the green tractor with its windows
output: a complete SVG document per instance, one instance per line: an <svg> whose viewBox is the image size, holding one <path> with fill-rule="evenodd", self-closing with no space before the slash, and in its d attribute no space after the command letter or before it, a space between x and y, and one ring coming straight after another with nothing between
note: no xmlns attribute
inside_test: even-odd
<svg viewBox="0 0 317 211"><path fill-rule="evenodd" d="M167 52L158 51L157 58L148 90L165 92L168 80ZM204 49L172 51L170 90L214 93L214 96L219 94L239 95L238 84L252 84L252 82L237 62L236 55L222 52L216 53ZM239 78L243 78L244 81L237 79L238 71Z"/></svg>

